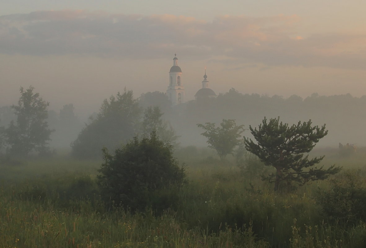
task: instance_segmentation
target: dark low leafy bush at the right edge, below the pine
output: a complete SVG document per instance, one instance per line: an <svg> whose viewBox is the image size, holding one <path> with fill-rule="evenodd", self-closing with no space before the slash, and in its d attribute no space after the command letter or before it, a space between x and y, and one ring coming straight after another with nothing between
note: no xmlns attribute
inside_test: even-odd
<svg viewBox="0 0 366 248"><path fill-rule="evenodd" d="M320 191L318 202L326 217L347 225L366 221L366 187L358 175L361 170L347 171L330 180L330 189Z"/></svg>

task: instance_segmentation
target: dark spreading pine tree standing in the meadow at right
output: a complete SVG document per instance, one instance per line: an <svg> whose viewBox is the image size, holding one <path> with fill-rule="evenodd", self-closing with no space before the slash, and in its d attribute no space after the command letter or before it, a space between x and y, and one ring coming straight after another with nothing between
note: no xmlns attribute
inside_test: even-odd
<svg viewBox="0 0 366 248"><path fill-rule="evenodd" d="M262 124L257 128L249 126L251 134L257 143L251 139L244 139L246 149L257 155L265 165L273 166L276 174L269 174L264 179L275 182L275 191L280 189L280 183L286 182L289 187L292 182L303 185L308 181L323 180L329 174L335 174L341 168L334 165L328 169L321 166L312 168L318 164L324 156L308 159L304 153L309 153L319 139L328 134L325 124L319 128L311 126L308 122L298 122L297 125L288 126L277 119L264 118Z"/></svg>

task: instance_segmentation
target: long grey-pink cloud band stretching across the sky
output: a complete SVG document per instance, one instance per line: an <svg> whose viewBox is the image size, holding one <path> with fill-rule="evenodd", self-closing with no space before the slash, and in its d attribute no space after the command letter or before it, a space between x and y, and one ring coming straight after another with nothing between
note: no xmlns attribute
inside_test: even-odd
<svg viewBox="0 0 366 248"><path fill-rule="evenodd" d="M38 11L0 16L0 53L146 59L178 52L238 64L365 68L365 34L303 37L296 32L303 21L296 15L226 15L206 22L175 15Z"/></svg>

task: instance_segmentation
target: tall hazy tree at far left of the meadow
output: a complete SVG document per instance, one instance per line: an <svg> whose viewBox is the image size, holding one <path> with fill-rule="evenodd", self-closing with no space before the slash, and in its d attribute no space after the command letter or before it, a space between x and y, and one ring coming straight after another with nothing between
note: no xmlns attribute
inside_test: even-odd
<svg viewBox="0 0 366 248"><path fill-rule="evenodd" d="M48 141L53 132L46 121L49 102L43 101L39 93L33 90L32 86L27 90L20 87L18 105L12 105L16 124L11 121L5 130L8 152L12 155L27 156L31 152L49 151Z"/></svg>

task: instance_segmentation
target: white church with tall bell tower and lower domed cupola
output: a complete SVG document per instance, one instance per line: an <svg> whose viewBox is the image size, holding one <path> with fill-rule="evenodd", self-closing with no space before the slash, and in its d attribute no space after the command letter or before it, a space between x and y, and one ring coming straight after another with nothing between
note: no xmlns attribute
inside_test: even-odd
<svg viewBox="0 0 366 248"><path fill-rule="evenodd" d="M199 89L194 96L196 100L208 97L216 97L214 91L212 89L209 89L208 83L209 81L207 80L205 69L205 75L203 76L202 81L202 89ZM176 54L173 58L173 66L170 68L169 71L169 86L167 89L167 95L169 101L171 101L173 105L178 105L186 102L184 97L184 86L182 83L182 69L180 69L180 67L178 66L178 58Z"/></svg>

